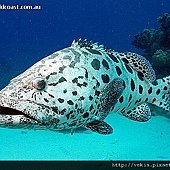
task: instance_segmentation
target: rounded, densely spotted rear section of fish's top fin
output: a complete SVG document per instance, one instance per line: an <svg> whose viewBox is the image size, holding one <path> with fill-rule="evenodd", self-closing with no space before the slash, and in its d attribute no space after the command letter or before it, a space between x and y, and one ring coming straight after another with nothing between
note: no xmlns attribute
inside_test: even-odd
<svg viewBox="0 0 170 170"><path fill-rule="evenodd" d="M143 56L136 53L120 53L120 58L137 72L143 74L144 79L150 82L155 81L156 75L150 62Z"/></svg>

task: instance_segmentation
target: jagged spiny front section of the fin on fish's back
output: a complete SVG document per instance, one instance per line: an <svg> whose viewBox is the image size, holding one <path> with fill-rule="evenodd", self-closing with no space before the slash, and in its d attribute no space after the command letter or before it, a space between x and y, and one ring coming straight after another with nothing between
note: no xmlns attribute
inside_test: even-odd
<svg viewBox="0 0 170 170"><path fill-rule="evenodd" d="M107 53L111 53L114 50L111 49L107 49L106 47L104 47L103 45L99 45L97 42L94 43L92 41L88 41L87 39L79 39L79 40L74 40L71 44L72 47L79 47L79 48L87 48L87 49L94 49L94 50L98 50L98 51L102 51L102 52L107 52Z"/></svg>

